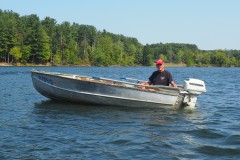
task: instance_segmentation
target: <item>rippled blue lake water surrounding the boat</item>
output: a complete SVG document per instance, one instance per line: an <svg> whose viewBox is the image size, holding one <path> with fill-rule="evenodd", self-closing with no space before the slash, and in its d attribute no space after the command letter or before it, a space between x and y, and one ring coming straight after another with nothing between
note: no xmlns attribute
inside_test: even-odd
<svg viewBox="0 0 240 160"><path fill-rule="evenodd" d="M204 80L190 109L48 100L31 69L147 80L154 67L0 67L0 159L240 159L240 68L166 68Z"/></svg>

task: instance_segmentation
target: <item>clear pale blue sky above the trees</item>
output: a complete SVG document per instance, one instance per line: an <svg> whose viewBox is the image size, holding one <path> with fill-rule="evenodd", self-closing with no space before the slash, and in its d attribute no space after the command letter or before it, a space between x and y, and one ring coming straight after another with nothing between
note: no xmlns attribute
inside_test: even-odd
<svg viewBox="0 0 240 160"><path fill-rule="evenodd" d="M240 0L0 0L1 10L86 24L142 44L240 50ZM1 26L0 26L1 27Z"/></svg>

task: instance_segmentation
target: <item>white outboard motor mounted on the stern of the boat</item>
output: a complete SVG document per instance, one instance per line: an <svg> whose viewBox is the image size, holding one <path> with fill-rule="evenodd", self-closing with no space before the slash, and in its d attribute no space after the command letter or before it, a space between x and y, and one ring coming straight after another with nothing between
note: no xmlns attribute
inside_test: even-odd
<svg viewBox="0 0 240 160"><path fill-rule="evenodd" d="M202 80L189 78L184 81L183 88L187 92L183 102L190 107L196 105L197 96L203 92L206 92L205 83Z"/></svg>

